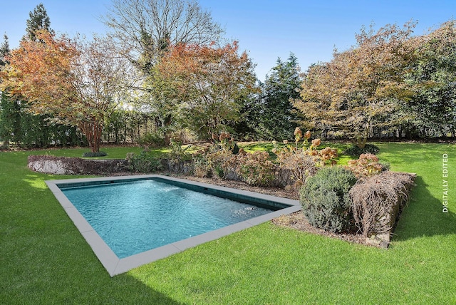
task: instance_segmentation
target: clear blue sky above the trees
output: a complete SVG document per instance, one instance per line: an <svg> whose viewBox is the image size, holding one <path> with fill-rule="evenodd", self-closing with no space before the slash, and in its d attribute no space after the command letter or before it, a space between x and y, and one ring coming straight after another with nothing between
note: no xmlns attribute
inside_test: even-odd
<svg viewBox="0 0 456 305"><path fill-rule="evenodd" d="M57 33L87 37L107 31L100 21L110 0L1 0L0 34L9 37L10 48L19 46L30 11L43 3L51 29ZM257 65L260 81L290 53L302 71L313 63L331 61L333 49L344 51L356 43L362 26L402 26L417 21L414 33L423 35L450 19L456 19L455 0L199 0L214 21L225 29L225 37L239 41L242 51ZM2 41L3 39L0 39Z"/></svg>

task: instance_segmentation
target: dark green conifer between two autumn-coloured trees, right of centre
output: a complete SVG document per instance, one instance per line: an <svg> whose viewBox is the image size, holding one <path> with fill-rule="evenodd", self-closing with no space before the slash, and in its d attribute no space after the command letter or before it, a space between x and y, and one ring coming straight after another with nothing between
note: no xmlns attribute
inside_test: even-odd
<svg viewBox="0 0 456 305"><path fill-rule="evenodd" d="M277 59L276 66L261 86L261 94L256 105L252 108L257 116L255 129L269 140L293 138L296 121L299 119L293 113L291 100L299 98L299 86L302 79L298 58L293 53L287 61Z"/></svg>

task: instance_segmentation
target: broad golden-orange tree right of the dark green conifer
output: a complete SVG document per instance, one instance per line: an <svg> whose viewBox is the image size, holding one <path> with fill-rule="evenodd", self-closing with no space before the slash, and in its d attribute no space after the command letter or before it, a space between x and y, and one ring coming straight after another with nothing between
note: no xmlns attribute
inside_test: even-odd
<svg viewBox="0 0 456 305"><path fill-rule="evenodd" d="M414 24L388 25L376 33L362 29L357 46L335 51L328 63L309 68L294 106L308 128L351 138L363 148L372 128L391 124L388 115L413 92L404 82L413 53L408 38Z"/></svg>

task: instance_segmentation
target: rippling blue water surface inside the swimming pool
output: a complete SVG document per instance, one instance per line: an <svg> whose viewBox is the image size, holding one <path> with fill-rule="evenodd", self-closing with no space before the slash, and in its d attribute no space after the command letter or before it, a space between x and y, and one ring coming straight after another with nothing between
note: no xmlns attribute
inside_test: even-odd
<svg viewBox="0 0 456 305"><path fill-rule="evenodd" d="M62 192L120 259L271 212L157 180Z"/></svg>

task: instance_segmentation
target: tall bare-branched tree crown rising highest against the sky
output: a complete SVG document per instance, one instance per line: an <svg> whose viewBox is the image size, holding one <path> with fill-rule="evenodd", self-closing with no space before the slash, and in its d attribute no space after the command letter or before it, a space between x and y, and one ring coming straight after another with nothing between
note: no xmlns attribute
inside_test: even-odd
<svg viewBox="0 0 456 305"><path fill-rule="evenodd" d="M167 46L209 44L224 32L195 0L113 0L103 20L121 53L146 74Z"/></svg>

